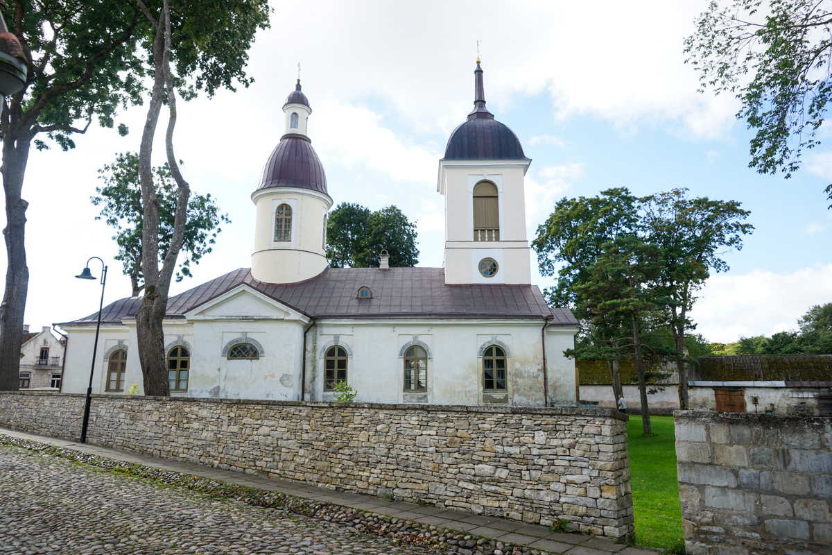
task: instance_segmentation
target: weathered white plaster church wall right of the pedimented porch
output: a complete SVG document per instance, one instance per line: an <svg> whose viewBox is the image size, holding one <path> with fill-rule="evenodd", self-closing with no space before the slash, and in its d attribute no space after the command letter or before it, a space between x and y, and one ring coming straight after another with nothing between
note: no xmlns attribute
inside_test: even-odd
<svg viewBox="0 0 832 555"><path fill-rule="evenodd" d="M357 401L375 403L484 404L483 361L478 350L493 339L508 347L508 403L542 406L541 320L528 323L460 322L322 322L315 325L314 357L308 359L307 400L331 400L324 393L324 349L339 344L350 353L347 382ZM574 363L562 355L572 345L573 330L548 335L550 399L574 400ZM414 335L417 336L414 339ZM404 392L403 346L418 340L428 347L428 390ZM557 350L559 349L559 350ZM414 399L421 397L421 399Z"/></svg>

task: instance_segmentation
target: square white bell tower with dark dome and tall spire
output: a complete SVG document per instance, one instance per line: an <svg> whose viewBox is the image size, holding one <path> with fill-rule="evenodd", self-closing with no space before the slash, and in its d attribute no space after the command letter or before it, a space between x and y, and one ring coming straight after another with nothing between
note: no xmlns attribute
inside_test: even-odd
<svg viewBox="0 0 832 555"><path fill-rule="evenodd" d="M532 160L523 154L514 132L485 106L479 58L473 104L439 161L445 283L530 284L524 181Z"/></svg>

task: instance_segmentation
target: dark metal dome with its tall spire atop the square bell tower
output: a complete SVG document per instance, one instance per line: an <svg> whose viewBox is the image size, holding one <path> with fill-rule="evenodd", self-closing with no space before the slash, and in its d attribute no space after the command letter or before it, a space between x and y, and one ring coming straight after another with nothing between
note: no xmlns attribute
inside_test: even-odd
<svg viewBox="0 0 832 555"><path fill-rule="evenodd" d="M483 68L474 70L473 111L448 139L443 160L528 160L514 131L485 107Z"/></svg>

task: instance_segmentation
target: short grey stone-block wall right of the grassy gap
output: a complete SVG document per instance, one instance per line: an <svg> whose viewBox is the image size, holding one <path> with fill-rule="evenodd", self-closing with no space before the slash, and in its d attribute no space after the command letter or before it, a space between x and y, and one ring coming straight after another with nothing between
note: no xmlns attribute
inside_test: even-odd
<svg viewBox="0 0 832 555"><path fill-rule="evenodd" d="M674 416L688 555L832 553L832 419Z"/></svg>

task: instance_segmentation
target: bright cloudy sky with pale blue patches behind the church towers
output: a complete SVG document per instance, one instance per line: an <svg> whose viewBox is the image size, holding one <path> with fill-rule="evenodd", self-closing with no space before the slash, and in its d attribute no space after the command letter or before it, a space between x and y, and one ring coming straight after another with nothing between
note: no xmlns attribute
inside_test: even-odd
<svg viewBox="0 0 832 555"><path fill-rule="evenodd" d="M419 265L441 266L438 159L473 107L480 41L488 109L532 158L529 240L557 200L612 186L636 196L687 187L691 196L740 201L755 230L742 250L724 254L730 270L699 292L696 332L727 343L796 329L811 305L832 301L832 211L823 193L832 146L807 153L789 180L748 167L753 134L735 119L738 101L697 93L682 53L707 3L272 2L271 27L250 49L255 82L179 103L175 148L186 180L215 196L231 223L171 295L250 266L250 194L280 140L299 62L312 145L335 205L398 206L417 221ZM105 303L130 295L90 196L102 166L138 150L144 118L134 107L116 117L131 129L125 137L93 123L73 151L32 151L23 186L32 329L97 310L100 286L73 277L90 256L109 266ZM830 132L821 128L821 139ZM155 165L164 162L163 134ZM5 257L0 265L5 272ZM532 282L554 284L533 255Z"/></svg>

